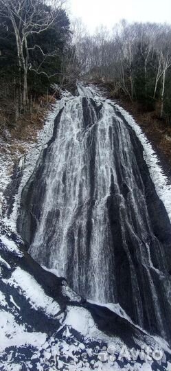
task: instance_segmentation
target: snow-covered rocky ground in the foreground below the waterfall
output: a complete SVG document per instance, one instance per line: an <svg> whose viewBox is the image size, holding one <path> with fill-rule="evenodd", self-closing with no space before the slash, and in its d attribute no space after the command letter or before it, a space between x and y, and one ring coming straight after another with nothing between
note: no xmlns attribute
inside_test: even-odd
<svg viewBox="0 0 171 371"><path fill-rule="evenodd" d="M0 254L7 253L8 242L10 245L7 237ZM10 262L12 254L16 251L10 252ZM169 370L170 363L163 352L168 352L169 348L162 339L155 341L146 335L146 342L135 339L137 348L130 350L119 337L100 331L86 308L67 304L60 311L60 304L45 293L30 273L15 264L10 265L4 257L1 257L0 267L1 262L0 370L151 371L155 370L154 365L160 370ZM112 311L128 319L119 306L113 306ZM52 330L48 332L47 326ZM153 357L160 351L163 358L154 363L152 357L144 358L145 353L141 353L136 359L137 349L144 352L147 345L154 352Z"/></svg>

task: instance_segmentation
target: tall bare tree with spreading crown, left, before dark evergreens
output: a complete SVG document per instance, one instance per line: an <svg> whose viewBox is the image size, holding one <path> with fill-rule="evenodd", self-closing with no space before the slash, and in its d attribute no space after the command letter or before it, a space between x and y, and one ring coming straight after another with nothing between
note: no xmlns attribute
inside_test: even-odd
<svg viewBox="0 0 171 371"><path fill-rule="evenodd" d="M41 34L51 27L64 2L65 0L54 0L49 6L41 0L0 0L0 14L12 23L16 40L20 86L23 72L23 106L26 106L28 102L27 72L31 68L29 63L30 49L39 47L38 45L33 45L32 48L28 47L29 39L34 34ZM41 52L43 54L43 50Z"/></svg>

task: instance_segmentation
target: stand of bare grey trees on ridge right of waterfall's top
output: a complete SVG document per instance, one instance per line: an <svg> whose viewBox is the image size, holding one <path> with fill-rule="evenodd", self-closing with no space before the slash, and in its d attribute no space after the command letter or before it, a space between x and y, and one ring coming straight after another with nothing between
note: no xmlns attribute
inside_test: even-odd
<svg viewBox="0 0 171 371"><path fill-rule="evenodd" d="M154 107L158 91L163 117L171 70L170 25L123 20L112 34L101 27L93 36L79 26L76 54L82 74L111 82L116 95L124 92L130 100L146 102L146 107Z"/></svg>

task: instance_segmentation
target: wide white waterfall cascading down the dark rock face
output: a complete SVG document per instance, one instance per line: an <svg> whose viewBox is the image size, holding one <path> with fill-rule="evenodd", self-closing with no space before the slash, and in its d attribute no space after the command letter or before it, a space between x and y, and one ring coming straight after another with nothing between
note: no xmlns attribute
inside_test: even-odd
<svg viewBox="0 0 171 371"><path fill-rule="evenodd" d="M80 295L119 303L168 339L168 215L133 130L109 101L78 90L23 190L19 231L32 257Z"/></svg>

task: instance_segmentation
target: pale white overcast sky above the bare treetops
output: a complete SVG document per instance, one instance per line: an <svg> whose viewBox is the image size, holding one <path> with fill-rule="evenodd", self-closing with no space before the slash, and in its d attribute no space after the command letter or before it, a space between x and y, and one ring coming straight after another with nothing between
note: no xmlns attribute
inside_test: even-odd
<svg viewBox="0 0 171 371"><path fill-rule="evenodd" d="M69 0L69 3L71 14L82 18L90 32L99 25L111 28L120 19L171 23L171 0Z"/></svg>

